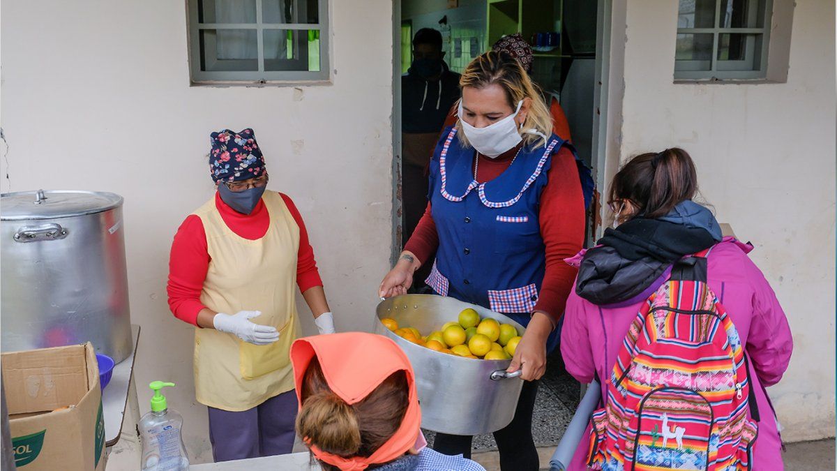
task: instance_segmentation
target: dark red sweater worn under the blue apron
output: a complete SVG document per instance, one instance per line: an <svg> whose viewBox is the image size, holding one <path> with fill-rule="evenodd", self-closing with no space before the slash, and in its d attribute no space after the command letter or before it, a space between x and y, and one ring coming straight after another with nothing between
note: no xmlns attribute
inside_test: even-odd
<svg viewBox="0 0 837 471"><path fill-rule="evenodd" d="M517 149L513 148L496 159L480 155L476 180L487 182L503 173L511 165ZM557 322L564 313L577 272L576 268L564 263L564 259L581 251L584 242L584 197L575 157L569 149L561 148L552 155L547 179L549 183L541 194L538 213L541 236L547 246L547 269L534 310L547 313ZM404 250L413 252L424 264L437 247L439 235L428 204Z"/></svg>

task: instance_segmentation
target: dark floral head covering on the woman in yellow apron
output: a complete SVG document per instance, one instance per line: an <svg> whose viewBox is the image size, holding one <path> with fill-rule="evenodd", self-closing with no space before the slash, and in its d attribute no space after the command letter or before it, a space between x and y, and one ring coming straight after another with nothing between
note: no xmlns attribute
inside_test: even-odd
<svg viewBox="0 0 837 471"><path fill-rule="evenodd" d="M264 173L264 158L251 128L209 135L209 173L215 183L252 179Z"/></svg>

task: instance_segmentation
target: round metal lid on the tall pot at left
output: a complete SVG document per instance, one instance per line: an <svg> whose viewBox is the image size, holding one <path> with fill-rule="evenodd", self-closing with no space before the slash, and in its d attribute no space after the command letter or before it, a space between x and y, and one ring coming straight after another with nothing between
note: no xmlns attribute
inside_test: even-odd
<svg viewBox="0 0 837 471"><path fill-rule="evenodd" d="M37 190L0 194L0 220L41 220L92 215L122 204L102 191Z"/></svg>

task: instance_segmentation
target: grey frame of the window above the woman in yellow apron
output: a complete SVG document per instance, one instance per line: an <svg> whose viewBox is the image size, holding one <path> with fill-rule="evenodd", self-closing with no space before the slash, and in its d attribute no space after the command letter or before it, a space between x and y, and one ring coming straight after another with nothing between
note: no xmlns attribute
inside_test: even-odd
<svg viewBox="0 0 837 471"><path fill-rule="evenodd" d="M294 85L303 82L329 83L331 81L330 53L330 23L329 0L317 0L319 23L264 23L262 22L262 1L254 0L256 4L255 23L200 23L198 21L199 0L187 0L188 15L188 52L189 74L193 85ZM218 29L248 29L256 31L256 49L258 50L257 64L259 70L200 70L201 69L201 30ZM320 70L264 70L264 31L319 31L320 40ZM294 47L299 46L296 41Z"/></svg>

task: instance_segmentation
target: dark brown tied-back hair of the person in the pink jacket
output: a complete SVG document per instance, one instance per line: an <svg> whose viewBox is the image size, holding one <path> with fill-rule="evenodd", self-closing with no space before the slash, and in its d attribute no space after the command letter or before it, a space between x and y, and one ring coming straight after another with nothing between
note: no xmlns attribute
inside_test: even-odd
<svg viewBox="0 0 837 471"><path fill-rule="evenodd" d="M681 148L643 153L632 158L614 176L608 204L627 199L637 215L658 218L697 193L697 171L689 153Z"/></svg>

